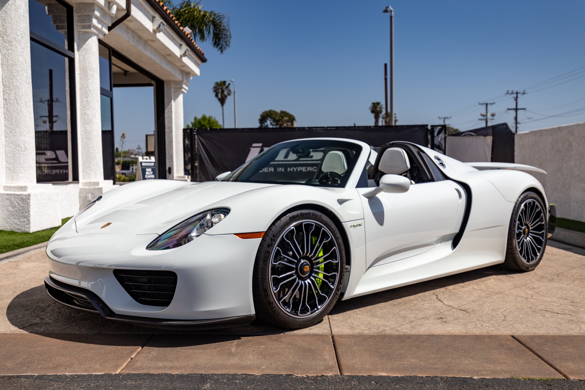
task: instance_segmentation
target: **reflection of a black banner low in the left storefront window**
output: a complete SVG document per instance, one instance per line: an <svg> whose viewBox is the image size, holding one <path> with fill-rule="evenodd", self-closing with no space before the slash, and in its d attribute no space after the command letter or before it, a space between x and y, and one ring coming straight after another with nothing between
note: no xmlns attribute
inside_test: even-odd
<svg viewBox="0 0 585 390"><path fill-rule="evenodd" d="M37 182L68 181L67 130L35 132Z"/></svg>

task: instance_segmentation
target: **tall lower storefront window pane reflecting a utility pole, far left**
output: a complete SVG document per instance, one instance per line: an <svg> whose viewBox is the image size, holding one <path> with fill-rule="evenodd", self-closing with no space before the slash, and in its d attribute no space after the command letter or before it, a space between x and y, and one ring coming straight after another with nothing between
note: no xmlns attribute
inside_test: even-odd
<svg viewBox="0 0 585 390"><path fill-rule="evenodd" d="M70 180L68 58L30 42L37 182Z"/></svg>

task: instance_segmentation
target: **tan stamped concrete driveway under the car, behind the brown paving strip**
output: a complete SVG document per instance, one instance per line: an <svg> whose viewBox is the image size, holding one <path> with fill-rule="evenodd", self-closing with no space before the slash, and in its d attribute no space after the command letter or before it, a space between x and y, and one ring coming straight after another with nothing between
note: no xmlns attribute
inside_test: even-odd
<svg viewBox="0 0 585 390"><path fill-rule="evenodd" d="M0 333L151 329L104 320L49 298L43 251L0 264ZM535 271L488 267L338 302L296 334L585 334L585 250L549 241ZM283 333L252 326L214 333Z"/></svg>

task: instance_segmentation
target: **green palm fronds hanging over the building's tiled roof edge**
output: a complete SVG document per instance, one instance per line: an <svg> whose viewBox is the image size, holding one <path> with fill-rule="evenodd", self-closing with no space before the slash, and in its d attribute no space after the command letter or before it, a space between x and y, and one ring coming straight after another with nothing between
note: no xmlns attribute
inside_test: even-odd
<svg viewBox="0 0 585 390"><path fill-rule="evenodd" d="M225 13L205 11L200 0L183 0L175 6L173 0L161 0L173 13L181 26L191 29L191 36L199 42L211 44L219 53L228 49L232 41L229 18Z"/></svg>

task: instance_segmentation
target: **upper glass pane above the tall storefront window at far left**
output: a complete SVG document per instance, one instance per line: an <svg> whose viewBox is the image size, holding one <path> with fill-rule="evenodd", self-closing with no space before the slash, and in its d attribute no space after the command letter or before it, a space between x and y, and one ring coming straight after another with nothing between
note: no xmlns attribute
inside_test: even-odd
<svg viewBox="0 0 585 390"><path fill-rule="evenodd" d="M69 49L67 47L67 8L56 0L29 0L29 25L30 32Z"/></svg>

